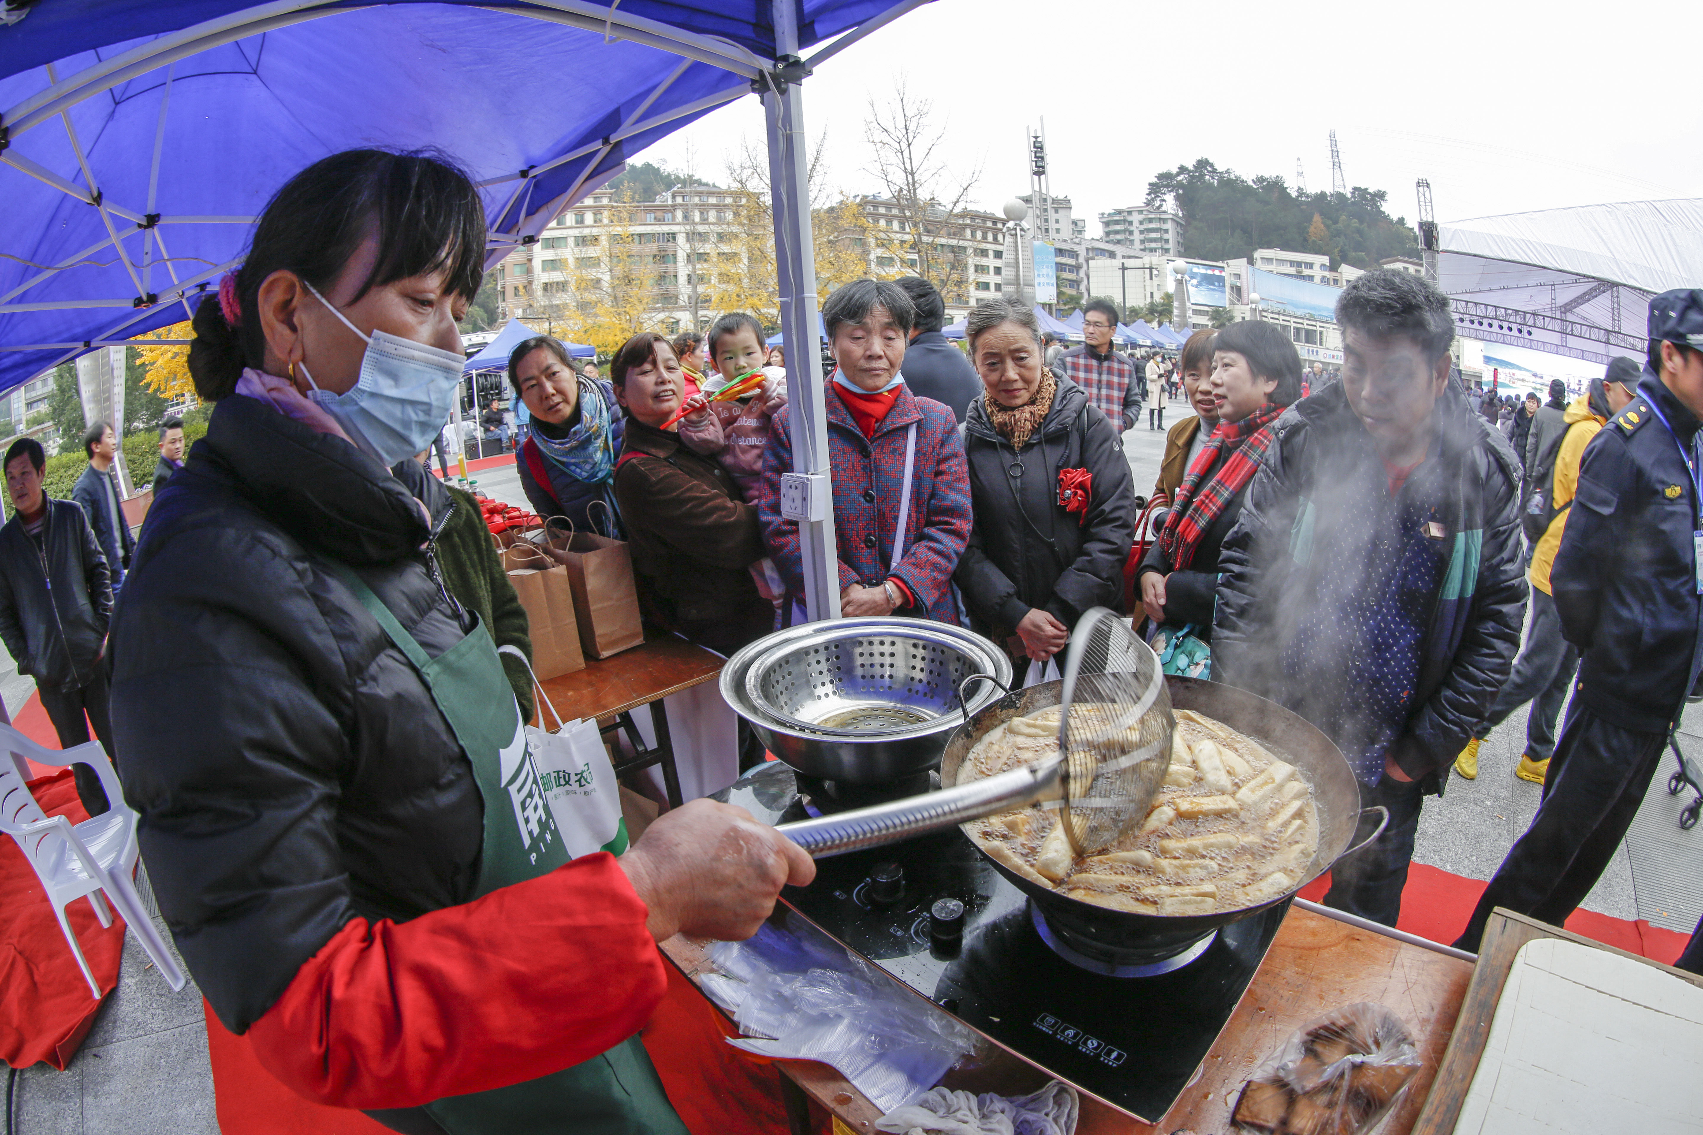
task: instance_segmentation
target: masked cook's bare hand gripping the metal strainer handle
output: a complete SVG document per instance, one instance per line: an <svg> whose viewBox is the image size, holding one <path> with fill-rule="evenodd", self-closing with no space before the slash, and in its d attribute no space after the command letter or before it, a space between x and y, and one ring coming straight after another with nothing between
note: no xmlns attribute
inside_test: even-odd
<svg viewBox="0 0 1703 1135"><path fill-rule="evenodd" d="M664 812L616 859L649 907L656 941L674 934L743 941L756 934L785 885L816 878L804 849L737 805L688 800Z"/></svg>

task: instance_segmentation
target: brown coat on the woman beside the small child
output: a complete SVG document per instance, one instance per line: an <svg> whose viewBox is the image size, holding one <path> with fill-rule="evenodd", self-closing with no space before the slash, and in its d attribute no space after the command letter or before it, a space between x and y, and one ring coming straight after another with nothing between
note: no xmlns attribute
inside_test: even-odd
<svg viewBox="0 0 1703 1135"><path fill-rule="evenodd" d="M731 645L748 626L768 630L773 607L746 570L765 555L756 509L739 500L714 458L628 417L615 500L652 621L710 648Z"/></svg>

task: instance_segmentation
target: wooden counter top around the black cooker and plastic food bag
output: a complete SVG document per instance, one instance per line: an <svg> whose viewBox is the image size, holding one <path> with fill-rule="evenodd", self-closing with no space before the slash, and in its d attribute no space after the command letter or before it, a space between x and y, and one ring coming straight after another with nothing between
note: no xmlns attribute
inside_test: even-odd
<svg viewBox="0 0 1703 1135"><path fill-rule="evenodd" d="M714 970L703 955L705 943L673 938L662 951L695 984ZM1236 1002L1230 1021L1201 1062L1199 1077L1184 1089L1156 1125L1093 1096L1081 1096L1080 1135L1170 1135L1178 1130L1226 1132L1230 1111L1241 1084L1293 1031L1356 1001L1388 1006L1413 1031L1424 1067L1408 1087L1403 1104L1390 1116L1381 1135L1407 1135L1431 1091L1454 1018L1466 995L1473 965L1424 946L1357 929L1310 910L1291 909L1265 961ZM989 1052L974 1072L954 1069L942 1084L964 1091L993 1091L1020 1096L1044 1086L1051 1075L1015 1052L988 1041ZM782 1082L794 1084L814 1104L812 1111L833 1116L834 1130L857 1135L872 1132L880 1109L826 1064L783 1060ZM788 1099L797 1115L804 1103ZM804 1116L799 1115L799 1120ZM1444 1128L1446 1130L1446 1128ZM826 1123L794 1123L794 1132L826 1132Z"/></svg>

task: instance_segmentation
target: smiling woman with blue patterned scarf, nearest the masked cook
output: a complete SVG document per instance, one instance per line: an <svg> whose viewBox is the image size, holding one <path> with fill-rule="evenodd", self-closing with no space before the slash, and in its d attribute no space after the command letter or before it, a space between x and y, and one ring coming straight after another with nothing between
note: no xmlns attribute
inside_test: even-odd
<svg viewBox="0 0 1703 1135"><path fill-rule="evenodd" d="M567 347L533 335L509 352L509 385L531 415L516 465L521 490L538 516L565 516L577 531L611 531L615 454L622 451L622 408L598 378L574 373ZM603 500L610 509L593 509Z"/></svg>

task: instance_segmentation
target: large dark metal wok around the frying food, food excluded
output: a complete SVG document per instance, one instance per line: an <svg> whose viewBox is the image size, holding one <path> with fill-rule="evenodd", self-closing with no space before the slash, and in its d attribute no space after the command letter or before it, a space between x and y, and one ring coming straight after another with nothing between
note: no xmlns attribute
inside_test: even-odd
<svg viewBox="0 0 1703 1135"><path fill-rule="evenodd" d="M1294 892L1330 870L1332 863L1376 839L1383 832L1385 822L1388 822L1388 812L1378 807L1376 810L1383 812L1383 822L1378 825L1378 830L1357 847L1349 847L1362 812L1359 781L1354 778L1354 769L1349 767L1347 759L1330 739L1301 716L1274 701L1250 694L1245 689L1236 689L1235 686L1175 676L1167 676L1165 682L1170 687L1173 710L1194 710L1196 713L1223 721L1306 773L1308 781L1313 784L1313 805L1318 808L1318 849L1313 853L1313 861L1294 890L1267 902L1243 907L1241 910L1219 910L1216 914L1187 917L1134 914L1131 910L1112 910L1080 902L1041 887L1003 866L984 851L981 853L1000 875L1035 902L1049 924L1064 927L1080 939L1115 953L1165 956L1187 948L1219 926L1228 926L1230 922L1259 914L1265 907L1286 902ZM964 725L959 725L950 740L947 740L945 756L940 761L940 783L955 784L959 764L962 764L978 740L1001 723L1013 716L1025 716L1047 706L1056 706L1061 686L1063 682L1042 682L1010 693L1000 701L984 706ZM981 846L978 844L976 849L981 851Z"/></svg>

